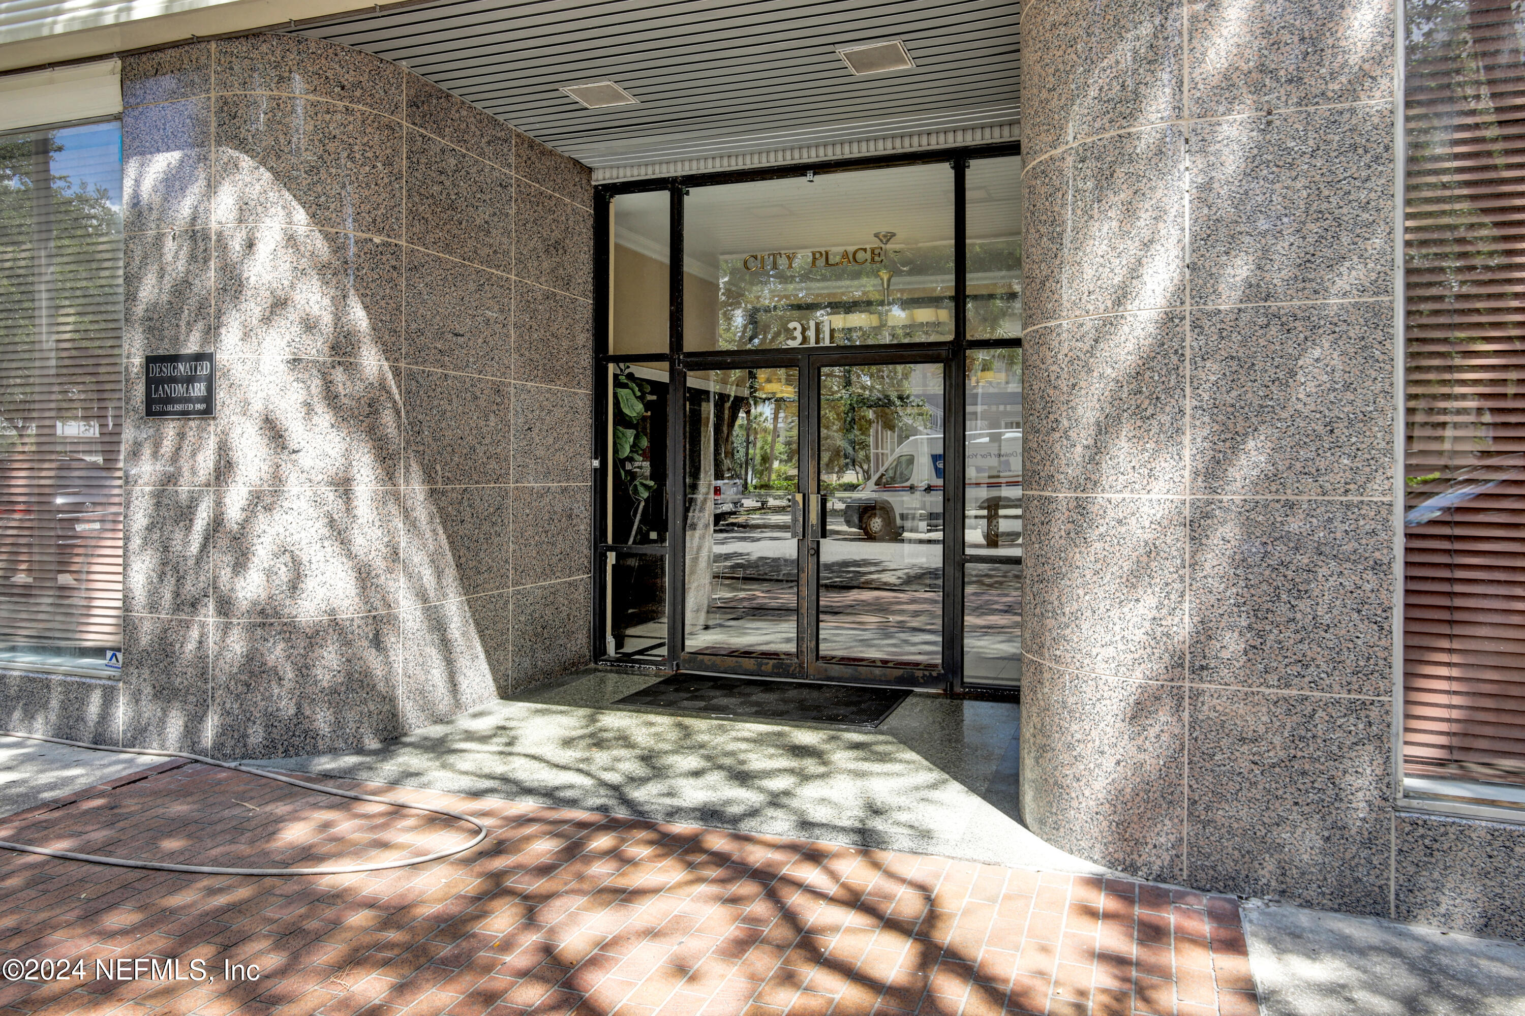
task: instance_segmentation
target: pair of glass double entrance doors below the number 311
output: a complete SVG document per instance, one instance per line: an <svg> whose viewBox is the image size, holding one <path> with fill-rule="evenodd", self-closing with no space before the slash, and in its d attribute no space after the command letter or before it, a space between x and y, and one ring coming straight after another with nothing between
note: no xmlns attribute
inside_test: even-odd
<svg viewBox="0 0 1525 1016"><path fill-rule="evenodd" d="M686 375L685 670L944 682L941 354Z"/></svg>

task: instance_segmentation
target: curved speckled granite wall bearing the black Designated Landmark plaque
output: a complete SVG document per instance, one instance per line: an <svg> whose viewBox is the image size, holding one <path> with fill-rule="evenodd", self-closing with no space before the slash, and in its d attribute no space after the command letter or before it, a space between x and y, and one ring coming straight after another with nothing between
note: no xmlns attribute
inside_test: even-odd
<svg viewBox="0 0 1525 1016"><path fill-rule="evenodd" d="M592 186L406 69L124 58L120 737L396 737L587 659ZM215 420L142 357L215 349Z"/></svg>

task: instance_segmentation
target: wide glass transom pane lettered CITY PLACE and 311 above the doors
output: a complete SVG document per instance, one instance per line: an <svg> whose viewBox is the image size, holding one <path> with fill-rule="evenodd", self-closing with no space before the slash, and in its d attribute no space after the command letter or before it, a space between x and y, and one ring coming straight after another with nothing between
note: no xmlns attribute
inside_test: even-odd
<svg viewBox="0 0 1525 1016"><path fill-rule="evenodd" d="M953 169L692 188L683 349L953 337Z"/></svg>

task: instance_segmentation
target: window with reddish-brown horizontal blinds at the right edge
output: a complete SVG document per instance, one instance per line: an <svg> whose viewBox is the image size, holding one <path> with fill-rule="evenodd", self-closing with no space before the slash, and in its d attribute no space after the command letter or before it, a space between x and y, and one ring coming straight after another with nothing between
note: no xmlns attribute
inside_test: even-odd
<svg viewBox="0 0 1525 1016"><path fill-rule="evenodd" d="M1525 11L1406 18L1405 770L1525 784Z"/></svg>

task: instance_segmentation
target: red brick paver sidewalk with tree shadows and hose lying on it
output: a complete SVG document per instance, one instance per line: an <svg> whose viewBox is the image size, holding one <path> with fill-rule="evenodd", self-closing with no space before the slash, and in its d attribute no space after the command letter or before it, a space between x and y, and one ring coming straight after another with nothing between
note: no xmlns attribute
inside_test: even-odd
<svg viewBox="0 0 1525 1016"><path fill-rule="evenodd" d="M458 859L323 877L0 851L0 960L69 961L64 979L0 981L0 1016L1258 1011L1226 897L332 783L442 804L493 833ZM169 763L0 819L0 839L311 865L422 853L464 828ZM139 979L96 966L152 958ZM189 979L192 960L214 979ZM259 979L223 979L224 964ZM186 979L165 979L175 972Z"/></svg>

